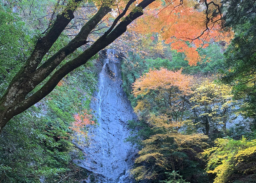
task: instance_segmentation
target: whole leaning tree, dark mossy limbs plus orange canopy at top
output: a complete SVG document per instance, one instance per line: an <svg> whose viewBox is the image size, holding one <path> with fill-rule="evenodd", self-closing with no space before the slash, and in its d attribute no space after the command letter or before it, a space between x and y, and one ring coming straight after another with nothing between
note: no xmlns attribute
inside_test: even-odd
<svg viewBox="0 0 256 183"><path fill-rule="evenodd" d="M219 5L216 4L217 2L207 3L205 1L198 4L198 2L191 1L130 0L115 2L110 0L104 3L95 1L91 3L98 6L97 12L93 13L79 32L74 34L75 36L71 41L54 51L54 54L48 58L46 54L49 53L50 48L66 27L70 25L71 20L75 18L74 11L82 5L81 0L68 1L68 3L64 3L61 6L59 3L57 2L52 12L49 27L43 34L38 36L39 38L33 45L34 48L31 50L30 55L25 58L26 61L23 61L24 64L22 64L18 73L13 76L5 94L1 97L1 130L13 116L23 112L49 94L65 75L85 64L98 51L126 32L127 26L143 15L143 9L149 5L143 20L147 23L148 18L151 17L155 21L154 26L146 27L150 27L153 32L159 32L161 29L162 38L167 43L172 42L172 49L185 52L190 64L196 64L199 61L197 47L207 46L206 42L209 42L210 39L222 40L224 37L231 37L226 36L226 32L220 29L221 12ZM30 6L29 15L33 13L31 10L32 5L34 6L34 4L32 3ZM201 6L205 6L206 10L200 11ZM111 8L114 9L114 12L110 16ZM120 12L122 8L123 11ZM169 12L171 16L168 16ZM152 13L156 13L156 17L152 17ZM26 19L26 13L24 12L23 14ZM57 14L56 19L53 21L55 14ZM97 26L105 17L109 16L113 17L114 21L109 22L108 25L102 28ZM195 19L198 19L200 23L195 23ZM145 22L138 20L136 24L145 25ZM184 29L175 30L175 27L181 26ZM154 27L160 29L157 30ZM204 27L206 27L205 30ZM192 28L196 28L196 30ZM102 34L99 34L100 36L94 38L93 44L83 50L81 54L67 60L67 57L77 48L89 43L90 34L97 30L103 31ZM140 28L137 27L137 30L140 30ZM186 34L184 31L186 31ZM218 36L217 33L219 33ZM194 46L187 45L186 41L189 40L192 41L191 43ZM3 66L1 66L1 70L5 70ZM43 86L37 87L42 83L44 83Z"/></svg>

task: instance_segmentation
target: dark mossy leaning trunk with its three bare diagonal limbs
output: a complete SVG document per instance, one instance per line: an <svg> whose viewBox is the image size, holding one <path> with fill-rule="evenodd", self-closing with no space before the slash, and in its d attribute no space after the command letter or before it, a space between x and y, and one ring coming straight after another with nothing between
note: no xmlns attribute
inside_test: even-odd
<svg viewBox="0 0 256 183"><path fill-rule="evenodd" d="M46 32L46 35L37 41L36 46L24 67L13 77L7 91L0 99L0 132L13 116L39 102L55 88L65 75L85 64L96 53L122 35L126 31L127 26L143 14L142 10L155 0L143 0L133 11L124 17L129 6L135 0L128 1L126 8L119 16L117 16L108 31L106 31L82 54L68 61L55 71L41 89L28 96L29 92L33 91L42 81L45 81L45 79L69 54L88 42L87 38L89 33L102 18L111 11L111 8L107 5L101 6L98 12L81 28L80 32L73 40L39 66L42 58L58 39L69 22L74 18L73 12L80 1L82 0L74 0L72 5L67 5L62 14L57 15L54 24ZM123 18L123 20L118 23L121 18Z"/></svg>

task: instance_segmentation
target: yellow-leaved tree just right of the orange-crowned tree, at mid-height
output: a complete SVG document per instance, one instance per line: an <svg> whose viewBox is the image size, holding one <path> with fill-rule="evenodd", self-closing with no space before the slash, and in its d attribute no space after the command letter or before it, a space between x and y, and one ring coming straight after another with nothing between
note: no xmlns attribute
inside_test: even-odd
<svg viewBox="0 0 256 183"><path fill-rule="evenodd" d="M204 133L212 140L218 131L226 133L226 124L235 105L231 90L227 85L206 80L199 84L190 98L192 110L198 118L196 122L201 121Z"/></svg>

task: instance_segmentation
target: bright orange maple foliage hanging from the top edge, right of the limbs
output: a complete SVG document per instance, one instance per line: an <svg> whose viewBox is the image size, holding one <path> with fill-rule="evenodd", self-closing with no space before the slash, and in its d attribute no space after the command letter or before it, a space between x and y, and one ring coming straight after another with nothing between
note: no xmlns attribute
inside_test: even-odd
<svg viewBox="0 0 256 183"><path fill-rule="evenodd" d="M158 8L155 8L158 7ZM136 20L134 31L154 36L183 52L190 65L201 60L198 49L209 42L230 42L233 33L223 30L219 0L157 0ZM152 36L152 33L157 33Z"/></svg>

